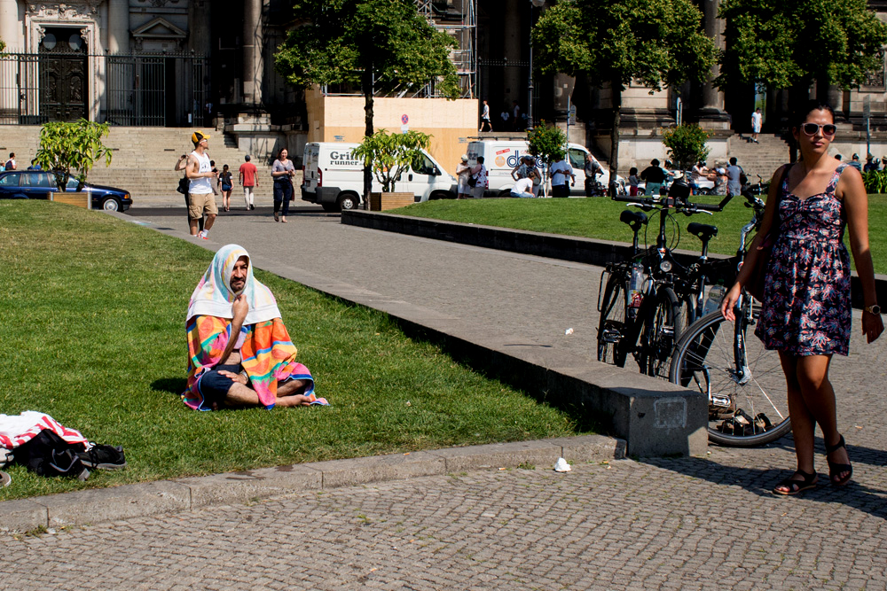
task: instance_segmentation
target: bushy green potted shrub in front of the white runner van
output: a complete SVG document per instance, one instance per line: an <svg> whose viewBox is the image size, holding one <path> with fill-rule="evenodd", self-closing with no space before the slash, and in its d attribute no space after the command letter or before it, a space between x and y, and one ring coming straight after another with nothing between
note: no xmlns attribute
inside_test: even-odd
<svg viewBox="0 0 887 591"><path fill-rule="evenodd" d="M370 167L376 180L381 183L382 191L387 193L394 191L395 183L413 162L423 157L422 151L428 150L430 143L431 136L420 131L389 134L385 129L380 129L372 136L364 137L363 143L351 153Z"/></svg>

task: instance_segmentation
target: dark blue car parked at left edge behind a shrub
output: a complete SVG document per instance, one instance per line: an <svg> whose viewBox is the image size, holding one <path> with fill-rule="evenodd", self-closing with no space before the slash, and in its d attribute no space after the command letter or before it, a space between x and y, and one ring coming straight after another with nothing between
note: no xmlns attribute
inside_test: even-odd
<svg viewBox="0 0 887 591"><path fill-rule="evenodd" d="M77 179L68 179L66 192L77 191ZM55 175L43 170L7 170L0 172L0 199L48 199L59 191ZM125 212L132 205L129 191L84 183L82 191L92 197L93 209Z"/></svg>

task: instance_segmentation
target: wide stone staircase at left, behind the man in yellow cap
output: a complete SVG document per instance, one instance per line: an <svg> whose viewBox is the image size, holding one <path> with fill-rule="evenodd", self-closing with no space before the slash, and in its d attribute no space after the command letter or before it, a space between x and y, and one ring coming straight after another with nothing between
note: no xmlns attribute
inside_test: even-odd
<svg viewBox="0 0 887 591"><path fill-rule="evenodd" d="M169 201L169 198L184 197L176 192L178 180L183 173L173 167L181 154L193 150L192 128L111 128L111 134L104 140L114 153L110 167L104 162L97 163L89 175L89 182L105 184L130 191L134 206L151 205L152 201ZM246 152L240 151L232 138L221 132L208 129L209 158L216 161L221 171L227 164L232 171L234 206L243 205L243 193L237 183L238 169L243 164ZM24 170L34 158L40 144L39 126L0 126L0 155L16 153L20 170ZM256 203L271 203L271 162L252 159L257 169L259 186L255 190ZM301 182L301 179L297 179ZM298 190L298 184L296 184ZM299 196L297 195L296 198ZM221 205L221 201L218 201Z"/></svg>

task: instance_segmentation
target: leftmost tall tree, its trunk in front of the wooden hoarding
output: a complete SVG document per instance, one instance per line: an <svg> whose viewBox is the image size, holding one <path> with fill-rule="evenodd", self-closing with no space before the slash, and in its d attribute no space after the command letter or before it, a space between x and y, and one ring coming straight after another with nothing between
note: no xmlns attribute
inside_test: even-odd
<svg viewBox="0 0 887 591"><path fill-rule="evenodd" d="M436 30L413 0L294 0L294 18L305 24L287 33L274 55L287 82L359 85L364 95L365 136L373 136L373 94L417 92L459 97L459 75L450 61L456 42ZM364 169L365 198L372 176Z"/></svg>

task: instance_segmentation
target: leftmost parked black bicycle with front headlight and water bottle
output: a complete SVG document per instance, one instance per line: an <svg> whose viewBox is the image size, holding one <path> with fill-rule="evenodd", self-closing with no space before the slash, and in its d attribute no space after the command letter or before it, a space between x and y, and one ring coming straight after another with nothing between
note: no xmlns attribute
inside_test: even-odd
<svg viewBox="0 0 887 591"><path fill-rule="evenodd" d="M686 326L681 299L673 289L674 272L684 268L672 254L666 229L677 222L675 213L692 215L717 212L726 204L687 201L690 189L682 180L671 183L668 197L615 197L644 211L656 210L659 230L655 246L641 250L640 229L648 223L641 212L624 211L620 220L632 229L632 250L625 261L608 264L598 291L598 360L624 367L629 354L640 371L668 377L671 352Z"/></svg>

